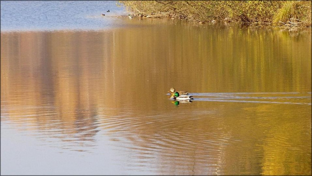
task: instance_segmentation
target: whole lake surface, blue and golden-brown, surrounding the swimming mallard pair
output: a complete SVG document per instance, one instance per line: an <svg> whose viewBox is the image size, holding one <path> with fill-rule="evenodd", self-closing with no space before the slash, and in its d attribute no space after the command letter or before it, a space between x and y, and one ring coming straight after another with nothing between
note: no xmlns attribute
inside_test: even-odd
<svg viewBox="0 0 312 176"><path fill-rule="evenodd" d="M311 30L115 3L1 2L1 174L311 174Z"/></svg>

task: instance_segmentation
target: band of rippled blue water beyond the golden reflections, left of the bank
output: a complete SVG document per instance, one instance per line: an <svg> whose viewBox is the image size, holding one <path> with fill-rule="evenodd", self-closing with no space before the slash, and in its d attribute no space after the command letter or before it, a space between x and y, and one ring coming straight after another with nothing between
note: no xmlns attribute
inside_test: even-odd
<svg viewBox="0 0 312 176"><path fill-rule="evenodd" d="M1 31L114 28L121 25L118 16L127 15L125 8L117 4L117 1L1 1Z"/></svg>

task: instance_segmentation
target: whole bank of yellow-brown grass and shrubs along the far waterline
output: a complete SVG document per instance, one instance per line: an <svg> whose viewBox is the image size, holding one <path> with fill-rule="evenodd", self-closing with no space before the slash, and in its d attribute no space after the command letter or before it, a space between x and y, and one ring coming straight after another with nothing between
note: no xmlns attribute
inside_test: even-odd
<svg viewBox="0 0 312 176"><path fill-rule="evenodd" d="M311 1L119 1L138 18L311 27Z"/></svg>

